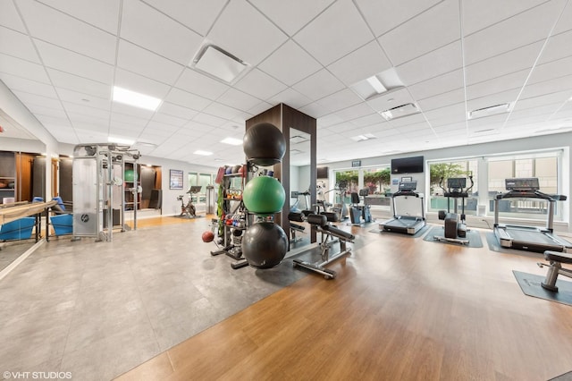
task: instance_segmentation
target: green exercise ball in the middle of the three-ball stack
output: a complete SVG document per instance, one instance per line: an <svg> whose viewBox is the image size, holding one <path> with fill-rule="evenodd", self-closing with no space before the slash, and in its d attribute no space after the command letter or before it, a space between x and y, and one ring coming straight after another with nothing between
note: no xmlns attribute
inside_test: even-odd
<svg viewBox="0 0 572 381"><path fill-rule="evenodd" d="M257 215L280 212L286 193L282 184L273 177L258 176L247 182L242 190L242 200L248 211Z"/></svg>

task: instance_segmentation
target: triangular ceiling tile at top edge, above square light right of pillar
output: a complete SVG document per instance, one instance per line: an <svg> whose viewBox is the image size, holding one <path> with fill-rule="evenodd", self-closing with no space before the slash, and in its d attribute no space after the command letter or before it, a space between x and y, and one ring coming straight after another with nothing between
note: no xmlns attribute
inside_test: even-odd
<svg viewBox="0 0 572 381"><path fill-rule="evenodd" d="M408 1L407 6L403 6L400 0L356 0L356 4L378 37L441 1L413 0Z"/></svg>

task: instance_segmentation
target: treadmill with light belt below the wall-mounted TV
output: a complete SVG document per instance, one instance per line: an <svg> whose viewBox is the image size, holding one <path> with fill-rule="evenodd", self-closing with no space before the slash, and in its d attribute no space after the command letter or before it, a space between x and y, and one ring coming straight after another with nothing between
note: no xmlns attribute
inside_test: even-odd
<svg viewBox="0 0 572 381"><path fill-rule="evenodd" d="M423 193L417 193L417 182L400 182L399 190L391 195L393 218L379 224L379 228L386 232L415 234L425 226L425 206ZM400 216L397 214L395 199L398 197L415 197L421 200L421 216Z"/></svg>

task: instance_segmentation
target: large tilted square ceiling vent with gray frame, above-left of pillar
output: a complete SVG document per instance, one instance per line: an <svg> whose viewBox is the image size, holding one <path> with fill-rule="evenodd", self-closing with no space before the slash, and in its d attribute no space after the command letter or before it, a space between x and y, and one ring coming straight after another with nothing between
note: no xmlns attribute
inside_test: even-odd
<svg viewBox="0 0 572 381"><path fill-rule="evenodd" d="M247 64L239 58L211 44L201 48L198 57L194 60L194 66L201 72L206 72L227 83L236 80L247 68Z"/></svg>

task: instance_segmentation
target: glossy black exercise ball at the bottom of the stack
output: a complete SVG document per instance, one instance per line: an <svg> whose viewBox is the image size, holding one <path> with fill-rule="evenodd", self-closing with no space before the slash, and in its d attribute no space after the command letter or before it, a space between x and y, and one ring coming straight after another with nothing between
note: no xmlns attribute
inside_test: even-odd
<svg viewBox="0 0 572 381"><path fill-rule="evenodd" d="M275 267L286 255L288 237L280 225L260 222L248 227L241 247L242 255L251 267Z"/></svg>

